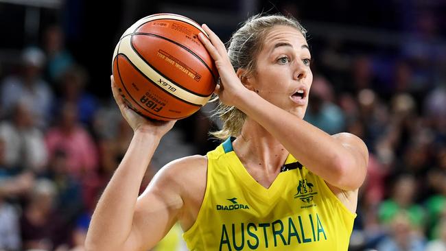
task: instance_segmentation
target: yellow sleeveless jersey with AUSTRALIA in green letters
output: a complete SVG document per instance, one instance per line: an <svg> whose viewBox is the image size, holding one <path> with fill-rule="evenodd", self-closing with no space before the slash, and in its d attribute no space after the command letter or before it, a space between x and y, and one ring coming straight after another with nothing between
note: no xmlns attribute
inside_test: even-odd
<svg viewBox="0 0 446 251"><path fill-rule="evenodd" d="M183 233L189 250L347 251L356 214L291 154L268 189L248 174L231 139L207 159L204 199Z"/></svg>

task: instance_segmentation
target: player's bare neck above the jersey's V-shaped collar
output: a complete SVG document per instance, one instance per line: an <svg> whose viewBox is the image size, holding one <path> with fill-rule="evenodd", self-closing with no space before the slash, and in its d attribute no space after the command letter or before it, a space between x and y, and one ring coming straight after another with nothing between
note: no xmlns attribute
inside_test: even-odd
<svg viewBox="0 0 446 251"><path fill-rule="evenodd" d="M234 151L247 169L280 170L289 152L259 123L249 118L233 142Z"/></svg>

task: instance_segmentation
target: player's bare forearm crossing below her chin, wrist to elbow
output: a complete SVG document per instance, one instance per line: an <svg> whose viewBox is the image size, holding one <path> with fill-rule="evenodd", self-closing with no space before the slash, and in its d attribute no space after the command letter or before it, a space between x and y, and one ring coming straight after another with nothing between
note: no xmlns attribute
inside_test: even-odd
<svg viewBox="0 0 446 251"><path fill-rule="evenodd" d="M248 91L237 108L263 126L314 174L331 184L338 183L344 167L353 159L347 149L326 132Z"/></svg>

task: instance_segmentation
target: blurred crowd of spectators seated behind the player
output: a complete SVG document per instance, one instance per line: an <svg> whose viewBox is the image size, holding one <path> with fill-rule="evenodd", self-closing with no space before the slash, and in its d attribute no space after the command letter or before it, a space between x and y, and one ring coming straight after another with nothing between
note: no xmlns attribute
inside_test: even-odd
<svg viewBox="0 0 446 251"><path fill-rule="evenodd" d="M350 250L446 251L446 34L443 16L420 16L391 49L309 30L315 77L305 120L360 136L370 152ZM67 49L60 25L42 36L23 48L20 64L0 69L0 250L83 250L97 199L132 138L110 93L89 92L91 71ZM209 107L177 122L169 152L218 145L207 134L219 126ZM172 158L150 165L141 191Z"/></svg>

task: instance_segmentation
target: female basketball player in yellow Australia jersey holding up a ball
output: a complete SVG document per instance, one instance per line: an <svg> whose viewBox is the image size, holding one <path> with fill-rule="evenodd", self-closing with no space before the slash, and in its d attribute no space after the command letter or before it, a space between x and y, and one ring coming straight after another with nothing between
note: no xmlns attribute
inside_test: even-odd
<svg viewBox="0 0 446 251"><path fill-rule="evenodd" d="M148 250L179 221L191 250L347 250L368 151L356 136L303 121L312 84L305 29L255 16L226 51L206 25L228 137L207 156L167 164L137 198L173 121L152 122L113 95L134 130L93 215L87 250Z"/></svg>

